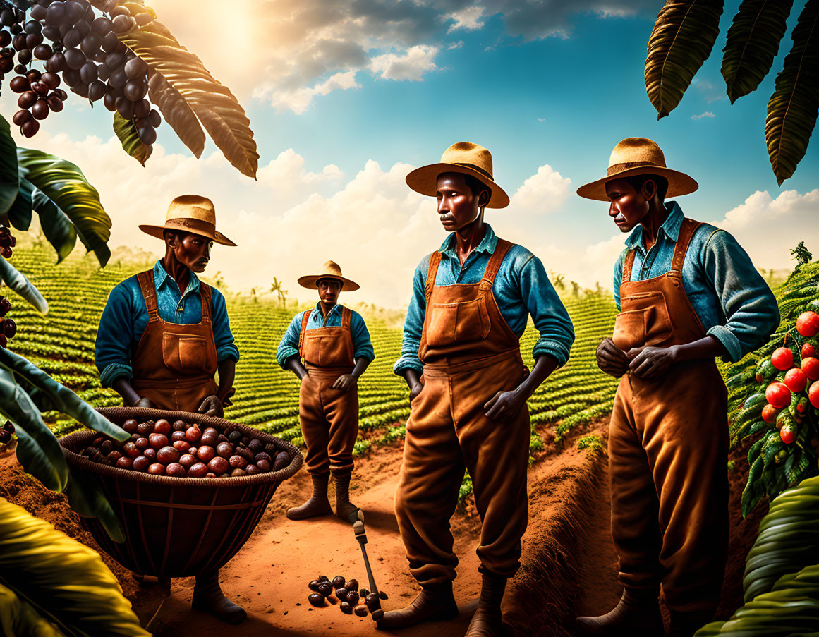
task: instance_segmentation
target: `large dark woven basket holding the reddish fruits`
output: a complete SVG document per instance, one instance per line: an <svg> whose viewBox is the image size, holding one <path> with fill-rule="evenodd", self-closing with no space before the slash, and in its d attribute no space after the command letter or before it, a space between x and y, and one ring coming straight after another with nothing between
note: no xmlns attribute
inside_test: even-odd
<svg viewBox="0 0 819 637"><path fill-rule="evenodd" d="M95 431L78 431L61 438L67 462L93 477L111 502L125 534L124 544L111 540L97 518L82 517L83 525L106 553L135 573L187 577L223 567L247 542L276 487L301 467L301 453L289 442L222 418L144 407L97 411L120 426L129 418L139 422L167 418L170 422L197 422L202 430L238 429L265 444L274 443L291 459L277 472L252 476L154 476L79 455L99 436Z"/></svg>

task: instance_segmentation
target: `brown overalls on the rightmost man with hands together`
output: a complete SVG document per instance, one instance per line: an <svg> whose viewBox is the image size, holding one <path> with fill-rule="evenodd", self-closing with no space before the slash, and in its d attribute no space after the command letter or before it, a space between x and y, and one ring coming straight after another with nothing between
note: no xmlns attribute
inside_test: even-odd
<svg viewBox="0 0 819 637"><path fill-rule="evenodd" d="M685 219L662 276L631 281L635 253L628 253L614 323L619 349L706 336L681 272L698 225ZM662 581L669 610L708 621L720 601L728 543L727 394L713 359L673 364L655 380L627 373L609 431L620 581L647 590Z"/></svg>

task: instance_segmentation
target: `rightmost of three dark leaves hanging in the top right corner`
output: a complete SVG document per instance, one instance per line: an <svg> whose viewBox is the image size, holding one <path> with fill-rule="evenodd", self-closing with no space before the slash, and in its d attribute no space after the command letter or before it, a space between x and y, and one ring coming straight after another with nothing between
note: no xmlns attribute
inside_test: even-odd
<svg viewBox="0 0 819 637"><path fill-rule="evenodd" d="M808 0L790 35L794 41L767 106L765 139L780 185L808 150L819 110L819 0Z"/></svg>

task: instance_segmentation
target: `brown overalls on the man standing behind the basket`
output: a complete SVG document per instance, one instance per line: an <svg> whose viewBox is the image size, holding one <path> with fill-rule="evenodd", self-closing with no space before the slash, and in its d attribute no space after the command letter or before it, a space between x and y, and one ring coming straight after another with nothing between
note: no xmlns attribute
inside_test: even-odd
<svg viewBox="0 0 819 637"><path fill-rule="evenodd" d="M133 355L133 391L157 409L195 412L202 400L219 391L214 379L218 359L210 323L210 287L199 282L201 321L183 325L160 318L153 270L139 273L137 280L149 318Z"/></svg>

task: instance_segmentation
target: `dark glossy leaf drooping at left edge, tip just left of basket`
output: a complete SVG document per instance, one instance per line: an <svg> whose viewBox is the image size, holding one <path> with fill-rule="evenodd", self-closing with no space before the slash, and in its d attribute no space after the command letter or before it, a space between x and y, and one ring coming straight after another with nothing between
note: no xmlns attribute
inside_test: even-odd
<svg viewBox="0 0 819 637"><path fill-rule="evenodd" d="M0 369L0 413L14 423L17 434L17 459L25 472L36 477L52 491L65 489L68 464L60 443L46 427L37 407L7 369Z"/></svg>

